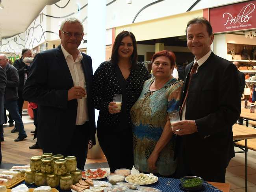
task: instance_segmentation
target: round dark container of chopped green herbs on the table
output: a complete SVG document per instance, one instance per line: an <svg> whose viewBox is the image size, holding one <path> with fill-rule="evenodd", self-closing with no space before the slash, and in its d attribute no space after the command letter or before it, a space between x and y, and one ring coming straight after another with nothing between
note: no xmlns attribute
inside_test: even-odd
<svg viewBox="0 0 256 192"><path fill-rule="evenodd" d="M204 179L197 176L185 176L180 178L180 183L184 189L199 190L202 187Z"/></svg>

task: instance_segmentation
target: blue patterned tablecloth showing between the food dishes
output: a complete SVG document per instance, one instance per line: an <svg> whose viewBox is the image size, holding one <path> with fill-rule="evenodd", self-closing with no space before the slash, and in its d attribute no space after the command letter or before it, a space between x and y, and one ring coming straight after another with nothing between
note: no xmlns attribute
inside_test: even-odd
<svg viewBox="0 0 256 192"><path fill-rule="evenodd" d="M108 179L106 179L106 178L100 179L100 180L108 181ZM171 181L169 186L167 185L168 181ZM21 184L26 184L26 183L22 182L19 185L21 185ZM180 185L179 179L158 177L158 182L153 183L151 185L147 185L147 186L158 188L158 189L162 190L163 192L183 192L183 190L180 189L179 185ZM34 184L26 184L26 186L28 186L28 188L37 188L37 186ZM61 190L59 187L57 189L59 190L59 192L71 192L71 190L69 190L69 191ZM204 182L204 190L197 191L197 192L221 192L221 190L218 190L211 184Z"/></svg>

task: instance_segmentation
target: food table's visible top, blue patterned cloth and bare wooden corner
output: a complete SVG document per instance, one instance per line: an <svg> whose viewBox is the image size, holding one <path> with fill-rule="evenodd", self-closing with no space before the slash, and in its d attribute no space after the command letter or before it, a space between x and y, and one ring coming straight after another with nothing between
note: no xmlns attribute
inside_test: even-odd
<svg viewBox="0 0 256 192"><path fill-rule="evenodd" d="M108 181L106 178L100 179L102 181ZM168 181L170 182L170 185L167 185ZM20 183L26 184L25 182ZM166 177L158 177L158 182L153 183L151 185L148 185L150 187L158 188L162 190L163 192L184 192L179 188L180 180L179 179L172 179L172 178L166 178ZM28 188L36 188L37 186L33 184L26 184ZM215 182L205 182L204 184L205 189L203 192L229 192L230 191L230 184L228 183L215 183ZM57 188L59 192L72 192L71 190L64 191L61 190L59 187ZM200 191L198 191L200 192Z"/></svg>

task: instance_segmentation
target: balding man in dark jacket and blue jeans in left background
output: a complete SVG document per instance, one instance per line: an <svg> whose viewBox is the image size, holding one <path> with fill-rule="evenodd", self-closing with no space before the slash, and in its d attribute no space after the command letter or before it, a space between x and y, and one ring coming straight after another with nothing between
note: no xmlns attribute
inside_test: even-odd
<svg viewBox="0 0 256 192"><path fill-rule="evenodd" d="M18 91L19 86L19 74L17 69L8 63L7 56L0 54L0 66L6 71L7 83L6 90L4 94L4 107L12 115L13 120L17 130L19 131L19 137L14 141L22 141L27 137L24 130L24 125L19 114L17 100L18 100Z"/></svg>

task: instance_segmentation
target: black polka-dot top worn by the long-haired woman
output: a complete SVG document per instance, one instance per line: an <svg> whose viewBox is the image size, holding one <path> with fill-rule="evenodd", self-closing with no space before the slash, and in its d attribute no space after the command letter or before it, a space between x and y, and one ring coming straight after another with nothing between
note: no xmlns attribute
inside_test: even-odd
<svg viewBox="0 0 256 192"><path fill-rule="evenodd" d="M110 114L108 105L113 101L116 93L122 94L121 87L115 74L115 67L110 61L105 61L97 68L93 75L93 102L95 108L100 110L98 125L118 125L120 113ZM126 79L126 116L128 124L131 124L130 109L137 101L144 82L149 78L146 67L137 63L137 69L132 69ZM122 109L122 108L121 108Z"/></svg>

